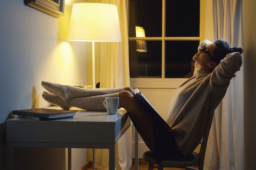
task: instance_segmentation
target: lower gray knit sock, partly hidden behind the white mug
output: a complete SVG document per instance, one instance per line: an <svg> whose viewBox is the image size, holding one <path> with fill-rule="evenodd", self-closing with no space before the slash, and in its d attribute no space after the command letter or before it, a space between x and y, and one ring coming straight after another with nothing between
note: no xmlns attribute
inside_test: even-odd
<svg viewBox="0 0 256 170"><path fill-rule="evenodd" d="M71 107L77 107L84 110L91 111L106 111L103 101L105 97L119 97L119 93L112 93L107 95L97 95L90 97L74 97L67 101L64 101L59 96L52 93L44 91L42 94L43 98L50 104L54 104L63 108L64 110L69 110ZM120 103L118 108L120 108Z"/></svg>

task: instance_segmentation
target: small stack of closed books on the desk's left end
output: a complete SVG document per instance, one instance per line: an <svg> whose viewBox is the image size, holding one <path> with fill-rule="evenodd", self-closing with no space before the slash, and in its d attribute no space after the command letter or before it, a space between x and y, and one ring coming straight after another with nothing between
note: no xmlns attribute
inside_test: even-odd
<svg viewBox="0 0 256 170"><path fill-rule="evenodd" d="M76 115L76 111L50 109L50 108L34 108L34 109L24 109L24 110L12 110L12 114L18 115L19 117L29 118L29 119L54 120L54 119L72 118L73 115Z"/></svg>

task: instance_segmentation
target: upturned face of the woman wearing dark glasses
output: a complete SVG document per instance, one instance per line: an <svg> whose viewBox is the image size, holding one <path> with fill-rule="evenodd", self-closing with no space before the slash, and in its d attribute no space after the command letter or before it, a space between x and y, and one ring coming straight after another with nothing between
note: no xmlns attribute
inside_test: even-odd
<svg viewBox="0 0 256 170"><path fill-rule="evenodd" d="M216 67L216 63L211 60L211 56L213 56L213 51L216 50L216 45L211 43L206 46L207 50L199 49L198 53L196 53L193 57L193 60L197 62L201 69L205 71L212 71Z"/></svg>

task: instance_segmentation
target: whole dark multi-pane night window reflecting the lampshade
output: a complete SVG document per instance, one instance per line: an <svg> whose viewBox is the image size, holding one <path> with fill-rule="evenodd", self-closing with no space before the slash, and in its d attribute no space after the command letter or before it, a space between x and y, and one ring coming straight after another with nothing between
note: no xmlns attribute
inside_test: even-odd
<svg viewBox="0 0 256 170"><path fill-rule="evenodd" d="M130 77L191 77L201 20L200 0L129 0Z"/></svg>

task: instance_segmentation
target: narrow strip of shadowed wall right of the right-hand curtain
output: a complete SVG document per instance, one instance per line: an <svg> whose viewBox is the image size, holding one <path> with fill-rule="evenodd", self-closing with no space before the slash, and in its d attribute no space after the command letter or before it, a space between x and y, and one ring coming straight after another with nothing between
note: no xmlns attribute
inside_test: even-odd
<svg viewBox="0 0 256 170"><path fill-rule="evenodd" d="M256 158L256 1L243 0L244 8L244 170L255 169Z"/></svg>

